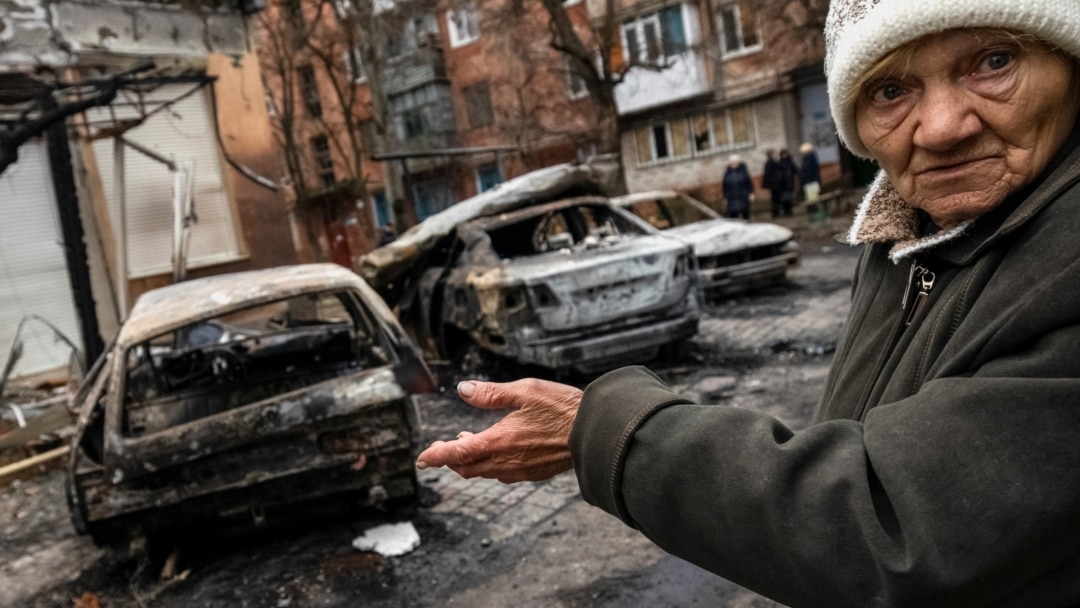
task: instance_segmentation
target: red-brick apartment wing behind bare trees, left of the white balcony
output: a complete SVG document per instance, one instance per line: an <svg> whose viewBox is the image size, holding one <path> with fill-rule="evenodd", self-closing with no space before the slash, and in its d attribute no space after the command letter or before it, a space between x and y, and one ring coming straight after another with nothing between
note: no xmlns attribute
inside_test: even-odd
<svg viewBox="0 0 1080 608"><path fill-rule="evenodd" d="M588 23L580 0L567 11ZM300 33L283 53L286 22ZM544 23L513 0L268 6L259 54L309 242L349 266L381 227L588 153L592 107Z"/></svg>

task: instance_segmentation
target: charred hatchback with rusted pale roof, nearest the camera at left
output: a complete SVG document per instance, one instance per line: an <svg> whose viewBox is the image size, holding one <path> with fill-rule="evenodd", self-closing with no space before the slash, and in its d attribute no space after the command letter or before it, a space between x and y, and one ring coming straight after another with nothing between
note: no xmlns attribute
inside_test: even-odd
<svg viewBox="0 0 1080 608"><path fill-rule="evenodd" d="M353 272L299 265L143 295L76 394L78 531L261 523L418 491L417 393L435 382Z"/></svg>

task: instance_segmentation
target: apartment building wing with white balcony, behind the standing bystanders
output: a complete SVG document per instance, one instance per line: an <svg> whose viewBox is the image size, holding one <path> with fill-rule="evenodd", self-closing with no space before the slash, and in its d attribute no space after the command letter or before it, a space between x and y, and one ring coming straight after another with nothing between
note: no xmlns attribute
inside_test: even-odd
<svg viewBox="0 0 1080 608"><path fill-rule="evenodd" d="M767 150L798 158L804 141L818 149L823 180L840 179L820 39L769 18L769 4L621 5L623 57L662 66L631 69L616 90L630 190L683 190L723 208L731 154L759 181Z"/></svg>

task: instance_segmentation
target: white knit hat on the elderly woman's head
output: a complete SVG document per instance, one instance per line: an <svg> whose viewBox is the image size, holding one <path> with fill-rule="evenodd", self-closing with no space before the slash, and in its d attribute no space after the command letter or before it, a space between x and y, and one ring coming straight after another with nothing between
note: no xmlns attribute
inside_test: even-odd
<svg viewBox="0 0 1080 608"><path fill-rule="evenodd" d="M846 105L863 72L912 40L947 29L1000 27L1080 57L1080 0L833 0L825 22L825 76L833 120L855 154L869 152Z"/></svg>

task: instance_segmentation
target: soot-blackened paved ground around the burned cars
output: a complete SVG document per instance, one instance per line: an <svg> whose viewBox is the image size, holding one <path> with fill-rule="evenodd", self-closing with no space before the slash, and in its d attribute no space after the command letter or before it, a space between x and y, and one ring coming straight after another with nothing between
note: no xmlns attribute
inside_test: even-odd
<svg viewBox="0 0 1080 608"><path fill-rule="evenodd" d="M702 400L806 425L847 312L856 252L824 239L802 246L792 284L713 307L687 352L654 368ZM436 373L445 387L462 377ZM445 391L421 408L429 441L499 416ZM505 486L437 470L420 481L423 498L411 510L308 514L288 528L159 543L144 558L75 533L60 471L5 482L0 606L778 606L584 504L572 474ZM403 521L421 539L410 553L352 548L365 530Z"/></svg>

